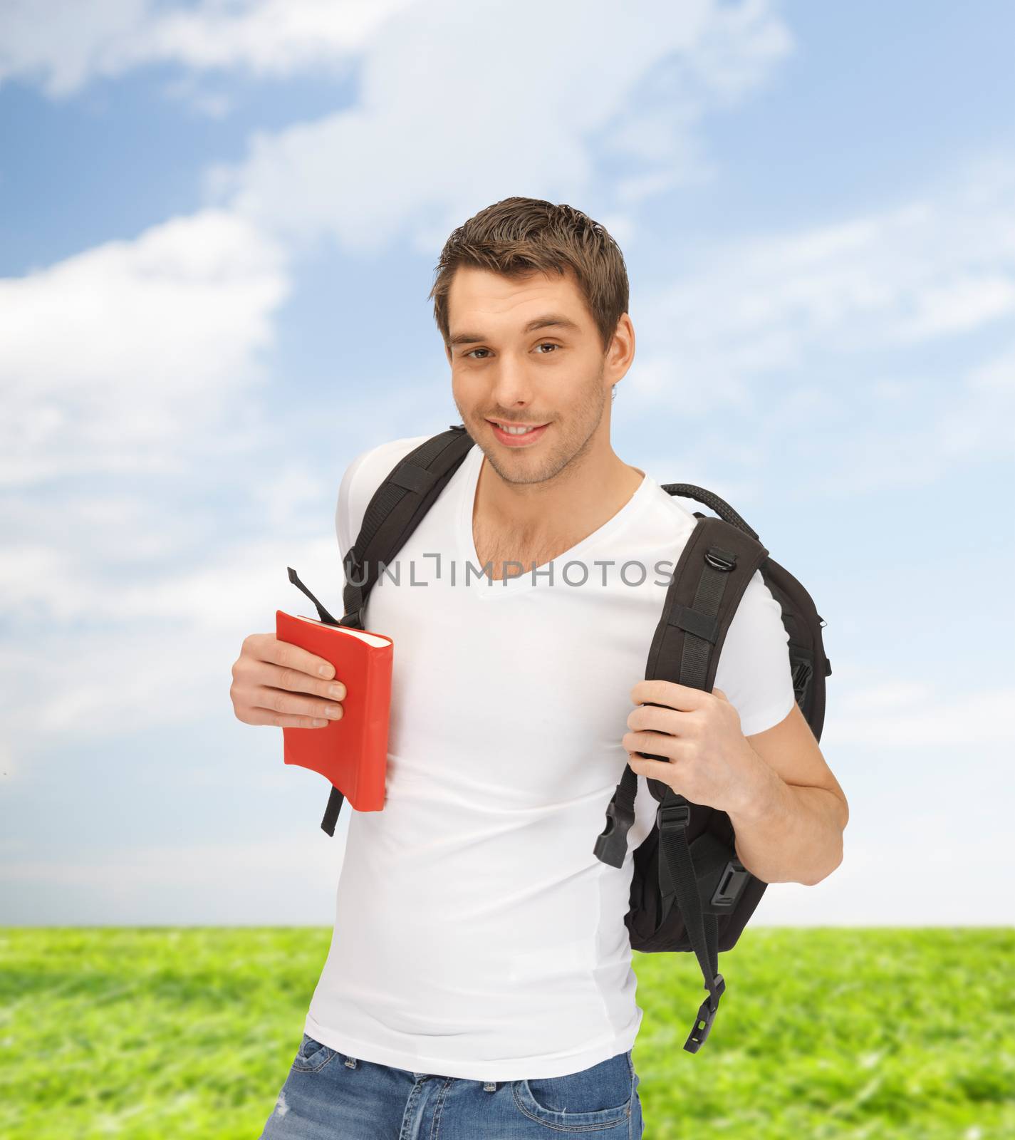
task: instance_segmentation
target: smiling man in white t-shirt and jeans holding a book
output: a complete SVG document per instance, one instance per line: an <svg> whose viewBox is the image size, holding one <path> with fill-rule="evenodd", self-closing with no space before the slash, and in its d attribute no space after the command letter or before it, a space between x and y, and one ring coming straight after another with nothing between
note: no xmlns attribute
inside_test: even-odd
<svg viewBox="0 0 1015 1140"><path fill-rule="evenodd" d="M728 812L767 882L838 865L845 797L760 573L712 693L639 681L696 520L611 447L611 392L635 357L613 239L567 206L508 198L452 234L432 295L476 446L370 595L369 627L396 646L385 806L350 814L330 952L263 1137L640 1137L623 918L655 817L645 776ZM343 554L425 438L349 465ZM341 715L342 678L318 678L321 663L247 638L237 716ZM637 820L617 870L592 846L628 759Z"/></svg>

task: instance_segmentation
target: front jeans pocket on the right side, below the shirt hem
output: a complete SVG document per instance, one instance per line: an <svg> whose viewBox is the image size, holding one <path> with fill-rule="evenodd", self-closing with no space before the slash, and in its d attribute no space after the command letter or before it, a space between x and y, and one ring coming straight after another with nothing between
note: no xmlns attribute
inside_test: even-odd
<svg viewBox="0 0 1015 1140"><path fill-rule="evenodd" d="M555 1132L591 1132L631 1115L635 1066L631 1050L566 1076L514 1081L515 1106Z"/></svg>

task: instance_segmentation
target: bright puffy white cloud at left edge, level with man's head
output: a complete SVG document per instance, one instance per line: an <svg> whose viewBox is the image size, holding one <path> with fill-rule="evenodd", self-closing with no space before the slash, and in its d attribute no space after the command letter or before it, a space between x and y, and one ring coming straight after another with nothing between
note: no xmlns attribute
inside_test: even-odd
<svg viewBox="0 0 1015 1140"><path fill-rule="evenodd" d="M279 246L218 210L0 280L0 486L180 471L227 414L216 453L242 446L288 290Z"/></svg>

